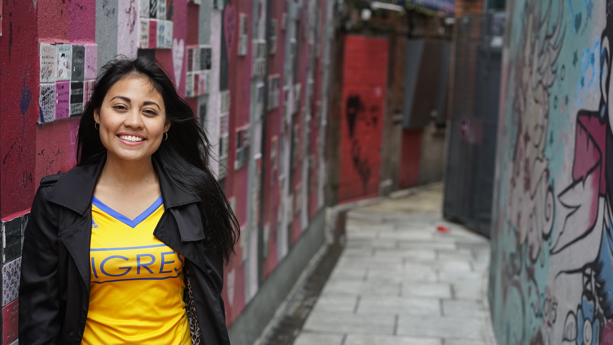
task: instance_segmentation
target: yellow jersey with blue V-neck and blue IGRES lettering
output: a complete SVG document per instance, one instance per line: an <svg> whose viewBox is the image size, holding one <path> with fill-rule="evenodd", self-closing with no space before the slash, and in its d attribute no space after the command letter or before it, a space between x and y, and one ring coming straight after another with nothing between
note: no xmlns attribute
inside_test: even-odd
<svg viewBox="0 0 613 345"><path fill-rule="evenodd" d="M95 196L91 203L91 291L81 344L191 345L185 257L153 236L162 196L134 220Z"/></svg>

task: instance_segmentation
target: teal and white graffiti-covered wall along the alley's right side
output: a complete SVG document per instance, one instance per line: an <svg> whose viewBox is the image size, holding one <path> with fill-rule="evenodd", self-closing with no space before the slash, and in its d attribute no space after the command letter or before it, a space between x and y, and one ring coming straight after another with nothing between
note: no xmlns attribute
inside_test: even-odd
<svg viewBox="0 0 613 345"><path fill-rule="evenodd" d="M613 1L507 4L489 290L498 343L613 344Z"/></svg>

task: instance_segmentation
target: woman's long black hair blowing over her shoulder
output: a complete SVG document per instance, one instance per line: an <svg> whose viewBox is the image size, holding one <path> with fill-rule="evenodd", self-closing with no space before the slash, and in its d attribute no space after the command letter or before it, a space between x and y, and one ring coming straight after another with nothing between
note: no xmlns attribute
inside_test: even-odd
<svg viewBox="0 0 613 345"><path fill-rule="evenodd" d="M100 109L107 92L118 80L131 76L147 77L164 99L166 118L171 125L167 132L168 139L162 141L153 157L170 180L200 198L200 217L207 246L221 252L227 263L240 235L238 221L226 195L208 168L211 153L205 131L194 111L177 94L175 85L156 60L145 56L135 59L121 57L102 67L81 118L77 138L77 166L93 163L105 155L107 150L94 128L94 110Z"/></svg>

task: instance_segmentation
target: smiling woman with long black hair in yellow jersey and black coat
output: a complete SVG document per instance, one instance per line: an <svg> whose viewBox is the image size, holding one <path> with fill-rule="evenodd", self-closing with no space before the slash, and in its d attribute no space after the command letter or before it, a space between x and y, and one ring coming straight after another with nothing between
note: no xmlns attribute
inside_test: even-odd
<svg viewBox="0 0 613 345"><path fill-rule="evenodd" d="M45 177L32 204L20 341L229 345L220 292L239 229L207 148L156 61L102 68L78 166Z"/></svg>

